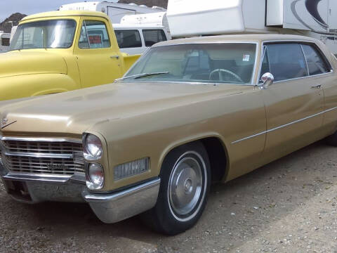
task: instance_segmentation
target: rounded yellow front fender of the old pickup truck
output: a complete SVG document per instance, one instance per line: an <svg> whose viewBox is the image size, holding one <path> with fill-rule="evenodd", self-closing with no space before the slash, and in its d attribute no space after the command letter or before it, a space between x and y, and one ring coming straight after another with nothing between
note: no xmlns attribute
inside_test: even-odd
<svg viewBox="0 0 337 253"><path fill-rule="evenodd" d="M80 89L67 74L24 74L0 78L0 100L41 96Z"/></svg>

